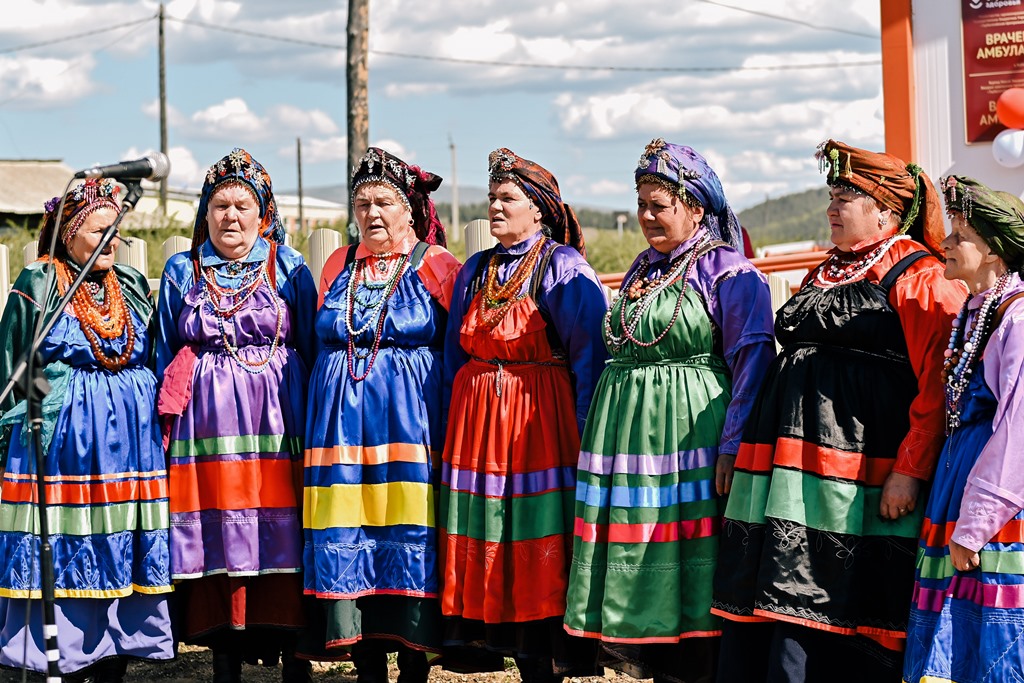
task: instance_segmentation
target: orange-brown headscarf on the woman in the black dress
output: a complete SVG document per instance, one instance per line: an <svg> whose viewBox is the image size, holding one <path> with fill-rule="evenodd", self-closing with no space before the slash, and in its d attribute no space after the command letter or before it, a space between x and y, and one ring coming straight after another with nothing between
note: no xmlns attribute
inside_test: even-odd
<svg viewBox="0 0 1024 683"><path fill-rule="evenodd" d="M942 206L931 178L916 164L884 152L868 152L845 142L825 140L814 155L818 168L827 170L829 185L849 185L870 196L900 217L900 232L943 258Z"/></svg>

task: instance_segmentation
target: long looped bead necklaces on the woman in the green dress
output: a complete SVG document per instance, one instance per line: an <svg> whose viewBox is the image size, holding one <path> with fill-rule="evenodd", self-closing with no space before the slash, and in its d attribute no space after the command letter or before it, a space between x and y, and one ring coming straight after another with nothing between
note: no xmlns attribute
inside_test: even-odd
<svg viewBox="0 0 1024 683"><path fill-rule="evenodd" d="M676 324L679 318L679 312L683 307L683 298L686 294L686 288L689 286L690 273L693 272L693 266L696 264L697 254L705 247L705 245L710 242L710 238L705 234L700 238L696 244L687 249L684 253L677 256L669 264L666 271L658 278L647 279L646 275L650 270L650 257L645 253L637 265L636 270L630 275L629 281L623 284L621 291L626 292L626 298L630 301L635 301L636 304L633 306L633 310L627 314L627 301L618 301L623 295L615 297L615 300L611 302L611 306L608 311L604 314L604 338L607 343L615 348L622 348L627 343L632 342L637 346L642 346L644 348L654 346L669 334L669 330L672 326ZM638 339L635 336L637 326L640 325L640 319L644 316L644 313L654 305L654 301L657 299L658 295L665 290L671 287L680 278L683 279L683 288L679 291L679 297L676 300L676 308L672 312L672 318L669 324L662 330L662 333L654 337L653 340L647 342ZM618 325L623 330L623 336L618 337L611 330L611 319L614 314L615 306L618 306Z"/></svg>

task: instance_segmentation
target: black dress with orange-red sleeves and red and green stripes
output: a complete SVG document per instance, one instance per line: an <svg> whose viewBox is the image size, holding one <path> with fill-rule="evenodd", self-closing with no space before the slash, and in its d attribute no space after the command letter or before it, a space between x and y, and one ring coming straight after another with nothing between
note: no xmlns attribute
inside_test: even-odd
<svg viewBox="0 0 1024 683"><path fill-rule="evenodd" d="M873 658L898 671L923 506L885 520L882 487L892 471L932 471L942 351L963 288L904 237L851 256L880 248L862 276L822 286L812 272L777 313L782 351L736 458L715 611L809 627L798 639L833 635L808 645L819 650L883 647Z"/></svg>

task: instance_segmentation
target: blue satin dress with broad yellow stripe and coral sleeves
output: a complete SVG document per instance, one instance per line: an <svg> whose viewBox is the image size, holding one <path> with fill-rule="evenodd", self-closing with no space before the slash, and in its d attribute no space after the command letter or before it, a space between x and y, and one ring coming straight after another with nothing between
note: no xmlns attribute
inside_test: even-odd
<svg viewBox="0 0 1024 683"><path fill-rule="evenodd" d="M325 265L303 526L305 592L321 598L328 648L387 639L439 651L441 354L458 270L414 236Z"/></svg>

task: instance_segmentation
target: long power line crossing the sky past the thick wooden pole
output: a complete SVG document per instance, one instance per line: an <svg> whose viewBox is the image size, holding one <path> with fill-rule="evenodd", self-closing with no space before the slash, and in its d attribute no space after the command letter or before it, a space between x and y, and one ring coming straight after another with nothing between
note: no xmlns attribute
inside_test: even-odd
<svg viewBox="0 0 1024 683"><path fill-rule="evenodd" d="M710 1L710 0L706 0ZM281 36L273 36L267 33L259 33L256 31L246 31L244 29L231 29L222 26L215 26L213 24L205 24L203 22L196 22L194 19L182 19L174 16L167 15L167 20L178 22L179 24L190 24L193 26L202 27L204 29L213 29L214 31L222 31L224 33L232 33L241 36L248 36L250 38L260 38L263 40L275 40L284 43L291 43L294 45L306 45L309 47L321 47L332 50L343 50L344 45L339 45L335 43L321 43L311 40L302 40L300 38L285 38ZM775 66L765 66L765 67L621 67L621 66L573 66L573 65L550 65L550 63L540 63L532 61L502 61L496 59L466 59L461 57L441 57L429 54L413 54L410 52L394 52L391 50L374 50L371 49L372 54L379 54L387 57L396 57L399 59L419 59L421 61L441 61L445 63L459 63L459 65L474 65L478 67L511 67L515 69L547 69L553 71L588 71L588 72L660 72L660 73L701 73L701 72L730 72L730 71L800 71L808 69L839 69L843 67L878 67L882 63L881 59L869 59L862 61L828 61L828 62L816 62L816 63L806 63L806 65L775 65Z"/></svg>

